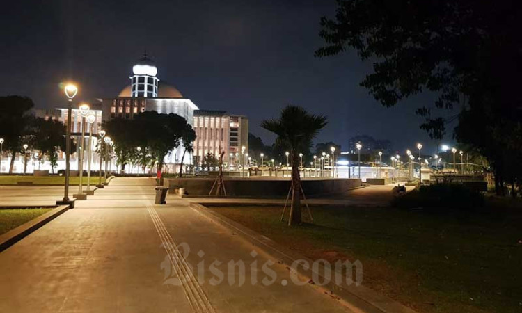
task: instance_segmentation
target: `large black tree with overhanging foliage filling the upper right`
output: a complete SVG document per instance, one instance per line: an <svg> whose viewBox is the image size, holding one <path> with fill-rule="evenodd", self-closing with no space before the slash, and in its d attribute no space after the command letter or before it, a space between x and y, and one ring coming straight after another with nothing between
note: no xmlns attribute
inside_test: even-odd
<svg viewBox="0 0 522 313"><path fill-rule="evenodd" d="M510 157L518 150L509 147L522 144L520 1L340 0L338 6L335 19L321 19L326 45L316 56L354 48L374 60L361 86L384 106L423 90L438 93L433 106L416 110L432 138L442 138L450 121L436 109L460 105L457 139L487 156L503 184L514 173L507 168L516 166Z"/></svg>

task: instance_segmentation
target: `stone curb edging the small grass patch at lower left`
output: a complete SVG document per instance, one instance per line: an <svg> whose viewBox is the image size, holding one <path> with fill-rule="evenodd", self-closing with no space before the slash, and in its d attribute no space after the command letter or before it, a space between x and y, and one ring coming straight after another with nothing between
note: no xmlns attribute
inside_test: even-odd
<svg viewBox="0 0 522 313"><path fill-rule="evenodd" d="M49 223L51 220L54 220L54 218L63 214L63 212L67 211L68 209L68 205L61 205L56 209L47 212L46 214L42 214L37 218L29 220L29 222L19 225L18 227L6 232L5 234L1 234L0 252L3 252L3 250L6 250L10 246L13 246L18 241L24 239L25 236L31 234L31 232L34 232L35 230L38 230L38 228Z"/></svg>

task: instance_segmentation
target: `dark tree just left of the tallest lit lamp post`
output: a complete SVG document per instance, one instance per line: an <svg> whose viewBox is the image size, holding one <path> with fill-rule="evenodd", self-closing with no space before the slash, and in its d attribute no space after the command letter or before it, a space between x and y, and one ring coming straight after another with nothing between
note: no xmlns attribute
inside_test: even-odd
<svg viewBox="0 0 522 313"><path fill-rule="evenodd" d="M54 168L58 163L58 149L65 150L65 125L58 120L45 120L44 118L34 118L31 124L32 145L40 151L38 162L41 163L44 157L47 157L54 173Z"/></svg>

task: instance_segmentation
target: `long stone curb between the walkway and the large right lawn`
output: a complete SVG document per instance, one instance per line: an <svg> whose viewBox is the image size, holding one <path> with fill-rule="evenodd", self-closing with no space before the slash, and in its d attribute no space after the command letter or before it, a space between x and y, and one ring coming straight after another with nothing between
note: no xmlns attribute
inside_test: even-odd
<svg viewBox="0 0 522 313"><path fill-rule="evenodd" d="M313 264L313 261L296 253L288 248L280 246L275 241L267 238L266 236L262 236L257 232L249 229L248 227L244 227L234 220L230 220L230 218L226 218L221 214L207 209L202 204L191 203L190 206L192 209L195 209L200 214L209 218L214 223L222 225L232 231L235 234L241 236L246 241L250 242L253 246L261 248L264 252L267 252L269 255L274 257L274 259L278 259L278 262L287 266L289 271L292 271L290 266L294 264L296 260L306 260L308 264ZM303 269L302 267L296 268L296 271L299 275L305 277L308 282L311 284L315 284L313 278L318 278L320 282L324 282L325 278L322 275L324 273L324 266L319 266L319 271L314 272L313 269ZM334 268L331 268L331 271L335 271ZM331 296L331 298L337 299L341 302L342 305L348 307L350 310L354 312L370 312L370 313L416 313L415 310L398 303L397 301L389 298L388 296L384 296L382 294L378 294L376 291L372 289L368 289L361 285L359 286L339 286L333 282L329 282L322 286L325 294Z"/></svg>

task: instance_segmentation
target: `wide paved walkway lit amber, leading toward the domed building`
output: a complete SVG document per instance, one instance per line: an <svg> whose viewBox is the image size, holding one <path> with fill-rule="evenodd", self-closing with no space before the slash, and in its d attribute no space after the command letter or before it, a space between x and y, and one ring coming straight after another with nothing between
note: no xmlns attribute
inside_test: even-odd
<svg viewBox="0 0 522 313"><path fill-rule="evenodd" d="M186 200L152 204L153 184L115 179L2 252L0 312L347 312Z"/></svg>

